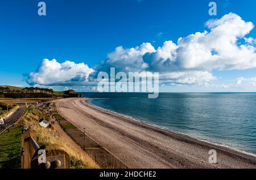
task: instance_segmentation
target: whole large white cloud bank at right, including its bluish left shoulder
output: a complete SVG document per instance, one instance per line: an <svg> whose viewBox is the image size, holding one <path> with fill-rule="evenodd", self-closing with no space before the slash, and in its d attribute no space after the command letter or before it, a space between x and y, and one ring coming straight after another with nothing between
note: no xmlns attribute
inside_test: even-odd
<svg viewBox="0 0 256 180"><path fill-rule="evenodd" d="M124 49L118 47L110 53L98 71L108 72L115 67L123 72L159 72L163 82L197 84L216 79L212 70L249 69L256 67L255 47L251 22L245 22L236 14L224 15L221 19L205 23L208 31L180 37L177 44L166 41L155 49L150 43ZM245 39L247 43L240 44Z"/></svg>

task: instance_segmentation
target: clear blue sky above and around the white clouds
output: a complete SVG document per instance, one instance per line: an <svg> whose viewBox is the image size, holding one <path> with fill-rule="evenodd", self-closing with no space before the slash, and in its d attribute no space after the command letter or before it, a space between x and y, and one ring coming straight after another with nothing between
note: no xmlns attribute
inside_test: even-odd
<svg viewBox="0 0 256 180"><path fill-rule="evenodd" d="M164 41L175 44L179 37L208 30L205 22L233 12L245 22L256 24L255 0L221 0L217 16L209 16L210 1L197 0L93 0L47 1L47 15L38 15L39 1L2 1L0 6L0 84L28 86L23 74L36 72L44 58L66 60L90 68L108 58L116 47L124 49L151 43L157 49ZM256 28L245 37L256 38ZM209 30L208 30L209 31ZM251 44L255 47L255 44ZM216 77L207 85L162 86L162 91L256 91L251 81L256 69L210 70ZM243 86L229 85L243 77ZM223 87L222 87L223 85ZM238 83L240 85L240 83ZM227 86L227 87L224 87ZM62 90L67 86L56 86ZM74 87L79 91L88 88Z"/></svg>

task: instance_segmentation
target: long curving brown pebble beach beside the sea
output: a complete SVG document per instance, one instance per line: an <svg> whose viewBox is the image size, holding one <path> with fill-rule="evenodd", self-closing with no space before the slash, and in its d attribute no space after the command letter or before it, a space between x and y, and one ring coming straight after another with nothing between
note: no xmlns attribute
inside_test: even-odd
<svg viewBox="0 0 256 180"><path fill-rule="evenodd" d="M69 122L104 146L129 168L256 168L256 157L136 122L94 107L84 98L56 101ZM217 151L217 164L208 152Z"/></svg>

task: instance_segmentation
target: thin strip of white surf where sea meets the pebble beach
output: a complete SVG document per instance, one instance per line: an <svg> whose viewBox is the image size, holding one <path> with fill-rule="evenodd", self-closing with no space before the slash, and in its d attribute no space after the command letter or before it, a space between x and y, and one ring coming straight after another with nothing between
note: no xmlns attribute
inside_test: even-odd
<svg viewBox="0 0 256 180"><path fill-rule="evenodd" d="M86 99L86 98L85 98ZM154 124L154 123L149 123L149 122L146 122L144 120L140 120L140 119L137 119L137 118L133 118L131 116L128 116L128 115L125 115L125 114L120 114L118 112L115 112L115 111L112 111L112 110L109 110L109 109L106 109L106 108L102 108L102 107L99 107L99 106L96 106L92 103L90 103L90 101L93 101L93 100L97 100L97 99L106 99L106 98L92 98L92 99L86 99L85 102L87 102L88 104L90 104L91 106L94 106L94 107L97 107L97 108L100 108L101 110L105 110L105 111L108 111L110 113L113 113L113 114L116 114L116 115L119 115L119 116L123 116L125 118L129 118L131 120L134 120L136 122L140 122L140 123L143 123L143 124L147 124L147 125L151 125L152 127L156 127L156 128L159 128L159 129L163 129L163 130L166 130L166 131L170 131L172 133L176 133L177 135L183 135L183 136L188 136L189 138L192 138L192 139L195 139L195 140L198 140L198 141L202 141L204 143L209 143L209 144L212 144L212 145L217 145L217 146L221 146L221 147L224 147L224 148L229 148L231 150L235 150L239 153L243 153L243 154L246 154L246 155L249 155L249 156L253 156L253 157L256 157L256 154L254 153L249 153L249 152L245 152L243 150L240 150L240 149L236 149L236 148L232 148L228 145L223 145L223 144L218 144L218 143L213 143L213 142L210 142L208 140L204 140L204 139L199 139L198 137L195 137L195 136L191 136L191 135L188 135L186 133L182 133L182 132L179 132L179 131L175 131L173 129L170 129L170 128L166 128L166 127L162 127L160 125L157 125L157 124Z"/></svg>

